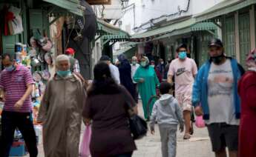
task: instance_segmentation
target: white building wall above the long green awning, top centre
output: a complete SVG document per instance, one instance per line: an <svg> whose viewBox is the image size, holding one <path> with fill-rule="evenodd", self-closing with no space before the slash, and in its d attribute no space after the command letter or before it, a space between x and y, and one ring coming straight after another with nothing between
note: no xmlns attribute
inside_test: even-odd
<svg viewBox="0 0 256 157"><path fill-rule="evenodd" d="M189 16L201 13L220 1L223 0L191 0L187 13L169 16L168 20L176 19L180 16ZM120 27L128 33L134 34L134 27L140 27L141 24L148 22L150 19L177 13L179 10L186 10L188 0L130 0L129 4L134 4L135 10L134 7L131 6L122 11L122 19L120 19L120 21L122 21L122 25ZM137 30L137 32L143 32L148 27L150 27L150 24L145 25L143 27L144 29Z"/></svg>

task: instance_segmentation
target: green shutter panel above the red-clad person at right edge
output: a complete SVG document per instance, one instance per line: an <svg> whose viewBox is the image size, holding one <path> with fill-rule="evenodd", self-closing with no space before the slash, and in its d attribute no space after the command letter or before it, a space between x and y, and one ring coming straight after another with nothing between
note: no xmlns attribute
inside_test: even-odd
<svg viewBox="0 0 256 157"><path fill-rule="evenodd" d="M245 67L246 55L250 51L250 16L249 13L239 15L239 44L240 44L240 63Z"/></svg>

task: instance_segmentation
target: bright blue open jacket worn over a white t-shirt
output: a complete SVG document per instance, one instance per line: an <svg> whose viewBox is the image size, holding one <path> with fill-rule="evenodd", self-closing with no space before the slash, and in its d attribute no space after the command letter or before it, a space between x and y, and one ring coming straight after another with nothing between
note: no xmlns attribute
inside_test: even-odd
<svg viewBox="0 0 256 157"><path fill-rule="evenodd" d="M237 63L237 60L231 59L232 71L234 76L233 94L234 94L234 109L236 118L240 118L240 98L237 93L237 82L243 74L243 67ZM208 105L208 76L211 67L211 61L206 61L197 73L197 77L193 84L192 104L194 107L201 103L203 108L203 118L209 119Z"/></svg>

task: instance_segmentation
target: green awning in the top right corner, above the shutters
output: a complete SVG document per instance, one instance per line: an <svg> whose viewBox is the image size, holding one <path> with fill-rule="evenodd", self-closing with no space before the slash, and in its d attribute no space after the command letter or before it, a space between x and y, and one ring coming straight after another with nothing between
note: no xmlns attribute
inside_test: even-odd
<svg viewBox="0 0 256 157"><path fill-rule="evenodd" d="M209 8L209 10L203 13L197 14L195 19L197 21L207 21L209 19L214 19L217 16L222 16L227 13L232 13L236 10L240 10L243 7L247 7L251 4L256 4L255 0L224 0L219 4L214 5L214 7Z"/></svg>

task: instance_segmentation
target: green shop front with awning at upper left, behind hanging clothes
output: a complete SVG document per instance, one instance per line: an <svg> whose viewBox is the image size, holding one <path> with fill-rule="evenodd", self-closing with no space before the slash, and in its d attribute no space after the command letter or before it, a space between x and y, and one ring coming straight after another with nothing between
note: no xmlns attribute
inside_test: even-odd
<svg viewBox="0 0 256 157"><path fill-rule="evenodd" d="M5 36L4 35L4 15L1 14L1 40L0 52L9 53L14 56L15 44L30 44L30 37L39 31L42 35L50 37L50 24L60 16L82 16L82 9L79 9L79 1L73 0L0 0L0 10L4 7L14 6L21 10L22 33ZM53 21L49 18L53 17Z"/></svg>

